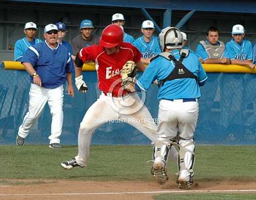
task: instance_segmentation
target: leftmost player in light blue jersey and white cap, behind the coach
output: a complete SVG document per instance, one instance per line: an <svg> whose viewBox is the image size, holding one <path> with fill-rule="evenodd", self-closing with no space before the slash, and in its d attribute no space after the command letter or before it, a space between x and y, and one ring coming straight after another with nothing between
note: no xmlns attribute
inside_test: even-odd
<svg viewBox="0 0 256 200"><path fill-rule="evenodd" d="M36 24L33 22L28 22L25 24L24 33L26 37L16 41L14 45L14 61L21 61L25 54L25 51L38 43L41 43L41 39L35 38L37 31Z"/></svg>

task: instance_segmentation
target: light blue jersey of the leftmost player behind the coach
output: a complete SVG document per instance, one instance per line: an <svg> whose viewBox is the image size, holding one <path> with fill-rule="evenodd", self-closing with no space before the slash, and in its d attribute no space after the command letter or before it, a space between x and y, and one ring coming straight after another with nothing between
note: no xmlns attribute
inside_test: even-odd
<svg viewBox="0 0 256 200"><path fill-rule="evenodd" d="M41 43L41 39L34 38L34 44ZM27 37L19 39L14 45L14 61L21 61L25 51L31 47L32 44L28 41Z"/></svg>

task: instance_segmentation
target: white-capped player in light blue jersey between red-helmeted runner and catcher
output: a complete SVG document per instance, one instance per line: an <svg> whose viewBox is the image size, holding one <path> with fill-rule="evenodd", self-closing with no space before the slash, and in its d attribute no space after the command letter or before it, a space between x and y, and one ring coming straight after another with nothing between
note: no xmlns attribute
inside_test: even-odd
<svg viewBox="0 0 256 200"><path fill-rule="evenodd" d="M154 30L154 23L152 21L144 21L141 28L143 35L133 42L133 45L141 51L141 61L144 64L149 64L150 59L154 55L161 53L158 39L156 36L153 36Z"/></svg>

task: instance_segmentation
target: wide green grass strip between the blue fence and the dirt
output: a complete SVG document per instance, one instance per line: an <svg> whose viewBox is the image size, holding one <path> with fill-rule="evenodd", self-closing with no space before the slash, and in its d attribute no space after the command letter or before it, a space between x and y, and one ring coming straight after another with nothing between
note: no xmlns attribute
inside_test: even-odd
<svg viewBox="0 0 256 200"><path fill-rule="evenodd" d="M77 154L76 146L0 146L0 179L75 179L153 181L151 146L92 146L86 168L64 170L60 163ZM256 146L196 146L195 181L256 181ZM176 166L169 161L169 174ZM0 182L4 184L4 182Z"/></svg>

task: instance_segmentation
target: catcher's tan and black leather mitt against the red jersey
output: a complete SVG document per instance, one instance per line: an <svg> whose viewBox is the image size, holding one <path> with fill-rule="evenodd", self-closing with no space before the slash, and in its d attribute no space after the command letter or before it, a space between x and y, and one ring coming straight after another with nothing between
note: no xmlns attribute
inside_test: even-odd
<svg viewBox="0 0 256 200"><path fill-rule="evenodd" d="M133 61L127 61L121 70L122 86L124 89L133 83L133 79L136 75L136 65Z"/></svg>

